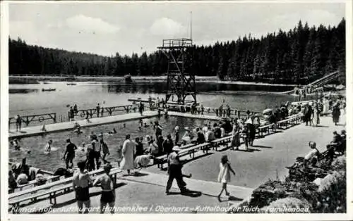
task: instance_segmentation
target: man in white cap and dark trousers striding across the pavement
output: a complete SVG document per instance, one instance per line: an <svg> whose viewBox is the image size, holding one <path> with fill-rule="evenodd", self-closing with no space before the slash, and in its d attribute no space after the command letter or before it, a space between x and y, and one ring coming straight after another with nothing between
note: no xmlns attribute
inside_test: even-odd
<svg viewBox="0 0 353 221"><path fill-rule="evenodd" d="M167 182L167 187L165 189L165 193L169 194L169 189L172 187L174 179L177 179L177 184L178 187L181 191L181 194L184 194L188 192L189 190L186 189L186 182L184 182L183 177L191 177L190 175L183 175L181 172L181 168L183 167L181 165L181 162L179 160L178 152L181 151L179 146L174 146L172 149L172 153L169 154L168 156L168 174L169 174L169 179Z"/></svg>

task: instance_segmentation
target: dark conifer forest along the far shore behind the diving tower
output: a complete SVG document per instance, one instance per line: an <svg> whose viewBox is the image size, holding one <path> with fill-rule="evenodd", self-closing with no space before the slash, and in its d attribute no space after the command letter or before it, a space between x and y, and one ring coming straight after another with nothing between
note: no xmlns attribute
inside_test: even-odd
<svg viewBox="0 0 353 221"><path fill-rule="evenodd" d="M299 21L293 30L249 36L186 51L186 72L220 80L306 84L325 74L345 73L345 19L334 27L309 27ZM10 75L165 75L167 57L160 51L140 56L99 56L31 46L9 39ZM339 80L345 83L345 75Z"/></svg>

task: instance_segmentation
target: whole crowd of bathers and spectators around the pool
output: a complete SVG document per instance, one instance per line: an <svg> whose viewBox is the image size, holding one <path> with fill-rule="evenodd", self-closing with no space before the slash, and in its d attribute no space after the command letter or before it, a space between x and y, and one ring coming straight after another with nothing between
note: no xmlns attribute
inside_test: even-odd
<svg viewBox="0 0 353 221"><path fill-rule="evenodd" d="M150 100L150 105L152 99ZM165 108L164 100L160 101L157 98L157 107ZM161 106L160 106L161 105ZM102 111L100 111L102 110ZM138 103L138 110L140 114L143 114L144 105L142 102ZM225 136L232 136L230 146L232 150L238 150L241 146L241 137L244 140L244 146L248 150L249 146L253 146L253 142L256 138L256 129L261 127L261 125L272 124L287 118L289 115L300 114L302 120L306 122L306 125L317 126L320 124L320 117L326 115L327 113L332 113L333 122L337 124L340 118L340 111L345 110L345 100L340 99L333 101L333 99L323 98L321 101L311 101L311 102L297 102L297 103L282 103L281 106L276 106L273 110L264 111L264 120L261 121L261 115L258 113L251 113L251 111L246 111L246 116L243 118L239 117L239 114L234 113L232 116L232 111L229 105L222 101L220 108L215 109L217 116L227 117L225 120L220 120L218 122L208 122L204 125L198 125L193 129L190 127L184 127L184 134L181 134L180 128L177 125L170 134L164 134L164 128L158 121L151 122L148 125L146 122L140 120L139 130L143 127L152 127L154 130L154 136L146 135L145 137L136 137L133 139L130 134L126 135L126 138L121 146L117 149L118 157L117 161L119 168L121 170L126 170L127 174L130 175L134 170L138 168L146 167L150 164L150 160L167 155L168 163L168 174L169 179L166 187L166 194L169 194L169 189L172 187L172 182L174 179L177 180L177 184L181 192L188 191L186 189L186 182L184 182L183 177L191 177L191 175L183 175L181 168L182 162L179 159L178 152L181 151L182 147L187 144L202 144L204 142L213 141ZM203 114L205 108L201 106L191 106L191 113ZM207 110L210 111L209 109ZM70 107L69 116L73 120L74 116L77 115L78 109L75 104ZM96 107L97 117L103 115L103 108L101 109L100 104ZM87 113L88 116L88 113ZM20 118L18 116L18 118ZM20 123L16 126L19 127ZM126 125L124 124L124 127ZM78 134L81 133L80 125L76 122L73 127L73 132ZM108 134L116 134L115 128L109 131ZM166 136L165 136L166 135ZM342 130L341 134L334 132L334 138L331 142L332 144L340 143L345 139L345 131ZM86 144L82 144L79 148L76 144L71 142L71 139L66 139L66 150L62 159L65 162L66 168L59 168L65 172L65 175L73 175L73 186L76 191L76 199L78 201L78 207L80 212L86 213L88 210L83 209L83 205L86 208L90 207L89 191L88 187L90 184L97 185L100 184L102 187L102 197L101 197L101 212L104 213L104 208L109 205L111 208L114 207L115 194L114 187L112 186L112 178L109 176L109 171L112 166L107 160L107 156L110 155L109 146L106 141L104 141L104 135L100 133L98 136L92 132L89 136L89 144L87 149L85 149ZM45 151L50 152L52 149L52 139L47 141L45 146ZM13 145L15 149L19 149L17 139L13 140ZM309 142L309 147L311 151L303 158L304 162L315 162L314 158L320 156L320 152L316 148L316 143ZM86 151L86 159L78 162L78 171L73 173L73 159L76 156L76 151ZM302 160L297 160L291 168L295 168L301 165ZM98 170L102 168L105 175L100 179L96 179L94 182L90 179L88 175L89 171ZM39 183L44 184L44 177L40 170L35 170L35 168L30 169L25 162L21 164L14 164L9 171L9 187L15 189L18 184L25 184L30 180L37 179ZM223 191L229 196L227 191L227 182L230 181L230 172L235 175L227 156L222 156L220 162L220 174L218 176L218 182L222 183L222 190L217 198L220 200L220 196ZM114 213L111 210L111 213Z"/></svg>

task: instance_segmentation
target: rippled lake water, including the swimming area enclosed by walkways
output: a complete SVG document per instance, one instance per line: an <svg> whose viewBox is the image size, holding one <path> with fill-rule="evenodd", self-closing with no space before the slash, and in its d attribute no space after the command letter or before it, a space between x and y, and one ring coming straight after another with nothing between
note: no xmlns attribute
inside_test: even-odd
<svg viewBox="0 0 353 221"><path fill-rule="evenodd" d="M95 108L97 103L101 106L121 106L130 104L129 98L148 99L148 96L160 98L164 97L163 91L165 84L156 82L153 84L138 85L119 85L109 82L78 82L76 85L69 86L67 82L50 82L49 84L10 84L9 85L9 114L10 116L31 115L39 113L56 113L59 121L61 116L67 119L68 107L76 103L78 109ZM56 91L42 91L42 89L55 88ZM294 101L294 96L280 95L271 93L272 91L286 91L288 87L268 87L268 86L249 86L249 85L232 85L232 84L198 84L199 94L198 102L204 106L218 107L225 99L226 103L232 108L249 109L261 111L264 108L273 108L280 105L284 101ZM225 91L225 94L222 94ZM146 122L156 119L145 120ZM208 121L207 121L208 122ZM176 125L184 128L186 126L195 127L204 123L203 120L175 118L161 118L161 125L164 127L163 135L172 132ZM122 124L101 125L97 127L83 128L83 134L77 135L73 132L56 132L45 136L28 137L20 139L20 146L27 151L15 151L9 147L9 158L12 161L19 162L21 158L27 157L30 165L46 170L54 170L55 168L64 167L61 157L64 154L66 139L71 138L73 143L80 146L83 142L88 143L88 135L93 131L96 134L100 132L107 133L115 127L118 134L105 136L109 145L111 155L108 160L116 160L116 148L122 144L126 134L131 137L142 137L146 134L153 134L152 128L143 128L138 130L138 122L126 122L126 128L122 128ZM183 130L181 130L183 134ZM44 145L53 139L52 146L57 149L45 155ZM76 162L85 158L85 152L76 152Z"/></svg>

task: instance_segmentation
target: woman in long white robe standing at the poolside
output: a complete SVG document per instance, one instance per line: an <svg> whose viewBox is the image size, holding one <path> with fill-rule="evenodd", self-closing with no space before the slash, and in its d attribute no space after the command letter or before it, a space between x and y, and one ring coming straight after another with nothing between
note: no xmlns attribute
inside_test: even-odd
<svg viewBox="0 0 353 221"><path fill-rule="evenodd" d="M131 141L130 134L126 135L126 139L121 150L123 160L121 160L120 169L127 170L130 174L130 170L133 170L133 156L136 153L136 144Z"/></svg>

